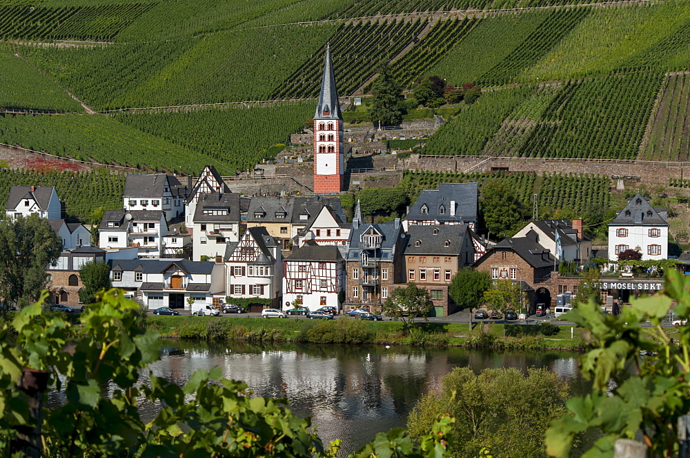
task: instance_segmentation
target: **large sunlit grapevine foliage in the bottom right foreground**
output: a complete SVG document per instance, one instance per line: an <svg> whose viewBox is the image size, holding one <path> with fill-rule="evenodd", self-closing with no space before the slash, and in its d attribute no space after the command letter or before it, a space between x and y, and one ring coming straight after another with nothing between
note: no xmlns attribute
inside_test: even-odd
<svg viewBox="0 0 690 458"><path fill-rule="evenodd" d="M573 439L595 430L599 439L583 456L612 458L617 439L638 435L649 446L648 457L679 456L678 418L690 405L690 326L662 326L674 301L678 318L689 319L690 278L669 269L660 293L631 300L620 315L603 313L594 301L564 315L589 333L580 371L592 391L569 399L569 412L551 423L550 455L569 457ZM642 329L647 320L650 326Z"/></svg>

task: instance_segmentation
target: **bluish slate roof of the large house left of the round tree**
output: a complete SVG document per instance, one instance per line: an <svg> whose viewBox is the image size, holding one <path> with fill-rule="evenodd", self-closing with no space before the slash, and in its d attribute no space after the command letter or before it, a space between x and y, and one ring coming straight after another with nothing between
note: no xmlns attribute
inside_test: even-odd
<svg viewBox="0 0 690 458"><path fill-rule="evenodd" d="M438 191L422 191L407 212L406 220L476 221L477 183L439 183ZM455 216L451 215L451 201L455 202ZM427 213L422 214L426 205ZM444 214L439 213L444 207Z"/></svg>

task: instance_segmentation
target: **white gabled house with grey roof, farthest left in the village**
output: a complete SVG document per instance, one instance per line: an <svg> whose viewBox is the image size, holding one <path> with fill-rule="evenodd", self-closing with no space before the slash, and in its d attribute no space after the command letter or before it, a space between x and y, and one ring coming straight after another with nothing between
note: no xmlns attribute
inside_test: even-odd
<svg viewBox="0 0 690 458"><path fill-rule="evenodd" d="M11 186L5 213L13 219L35 213L41 218L59 220L63 216L63 204L55 186Z"/></svg>

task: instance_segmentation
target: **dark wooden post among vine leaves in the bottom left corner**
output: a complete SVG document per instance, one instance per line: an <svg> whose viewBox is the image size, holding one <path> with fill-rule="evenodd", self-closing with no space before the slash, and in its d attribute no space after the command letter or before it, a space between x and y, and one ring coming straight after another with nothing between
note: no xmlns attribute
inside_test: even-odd
<svg viewBox="0 0 690 458"><path fill-rule="evenodd" d="M17 426L17 437L10 442L10 453L22 458L41 458L41 423L43 422L43 392L48 387L48 372L24 368L19 390L26 395L31 425Z"/></svg>

